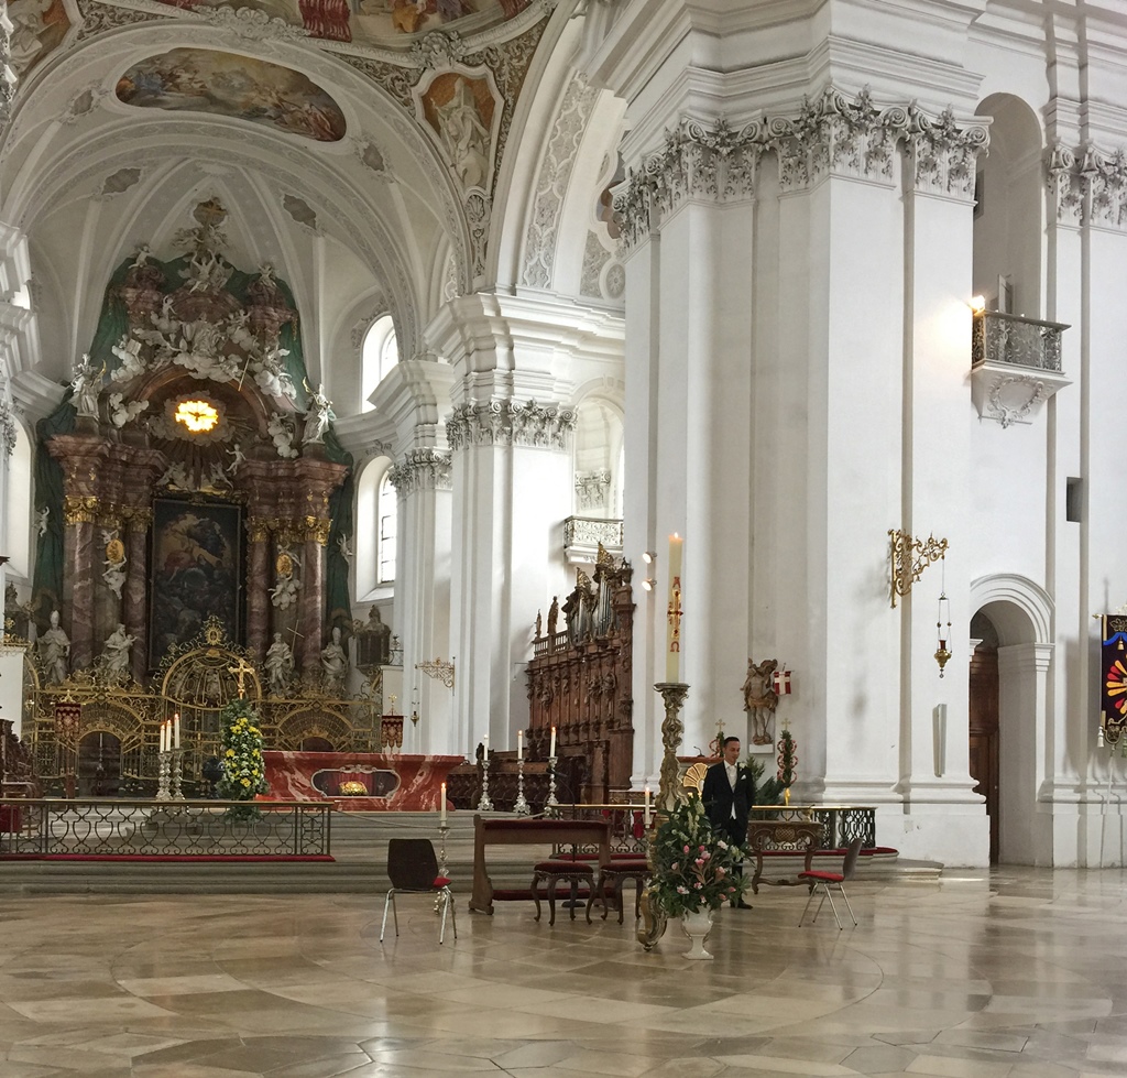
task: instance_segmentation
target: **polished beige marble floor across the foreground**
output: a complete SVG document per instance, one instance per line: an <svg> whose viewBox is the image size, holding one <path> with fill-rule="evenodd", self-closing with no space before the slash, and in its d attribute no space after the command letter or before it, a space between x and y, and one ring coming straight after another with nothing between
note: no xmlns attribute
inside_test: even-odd
<svg viewBox="0 0 1127 1078"><path fill-rule="evenodd" d="M425 896L6 899L0 1078L1127 1075L1127 876L858 881L860 927L805 892L680 928Z"/></svg>

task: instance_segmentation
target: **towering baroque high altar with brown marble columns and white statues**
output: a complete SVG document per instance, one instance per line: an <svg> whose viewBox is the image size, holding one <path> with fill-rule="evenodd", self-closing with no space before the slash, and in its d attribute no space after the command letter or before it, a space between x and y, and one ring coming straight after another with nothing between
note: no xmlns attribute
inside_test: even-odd
<svg viewBox="0 0 1127 1078"><path fill-rule="evenodd" d="M387 650L349 610L353 461L290 288L227 260L225 217L201 203L183 255L118 266L37 427L35 578L6 619L27 643L24 740L47 794L91 771L94 792L151 793L174 714L186 788L206 793L240 689L270 749L394 746L379 664L352 661L374 654L357 633Z"/></svg>

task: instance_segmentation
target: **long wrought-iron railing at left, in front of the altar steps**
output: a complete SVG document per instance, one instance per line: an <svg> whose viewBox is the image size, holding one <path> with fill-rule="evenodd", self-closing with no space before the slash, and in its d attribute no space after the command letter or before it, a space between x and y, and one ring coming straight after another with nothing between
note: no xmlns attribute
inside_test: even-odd
<svg viewBox="0 0 1127 1078"><path fill-rule="evenodd" d="M323 856L331 808L294 801L2 798L0 856Z"/></svg>

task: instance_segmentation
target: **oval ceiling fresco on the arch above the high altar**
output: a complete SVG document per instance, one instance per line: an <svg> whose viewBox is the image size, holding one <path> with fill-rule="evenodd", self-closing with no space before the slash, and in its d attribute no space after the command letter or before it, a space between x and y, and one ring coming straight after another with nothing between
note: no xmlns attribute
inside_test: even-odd
<svg viewBox="0 0 1127 1078"><path fill-rule="evenodd" d="M134 64L117 98L136 108L210 113L277 127L317 142L339 142L337 103L300 71L208 48L174 48Z"/></svg>

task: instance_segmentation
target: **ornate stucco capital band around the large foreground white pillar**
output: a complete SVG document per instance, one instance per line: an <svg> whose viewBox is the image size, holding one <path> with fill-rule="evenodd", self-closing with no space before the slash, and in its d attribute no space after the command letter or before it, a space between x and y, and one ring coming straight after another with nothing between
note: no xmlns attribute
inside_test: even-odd
<svg viewBox="0 0 1127 1078"><path fill-rule="evenodd" d="M890 184L894 157L906 150L916 189L970 198L975 159L990 141L980 123L959 124L917 106L878 108L868 89L850 98L827 87L804 99L797 116L767 116L733 130L682 120L665 145L631 169L614 196L629 250L689 198L728 202L752 197L764 152L779 159L780 186L795 191L826 176Z"/></svg>

